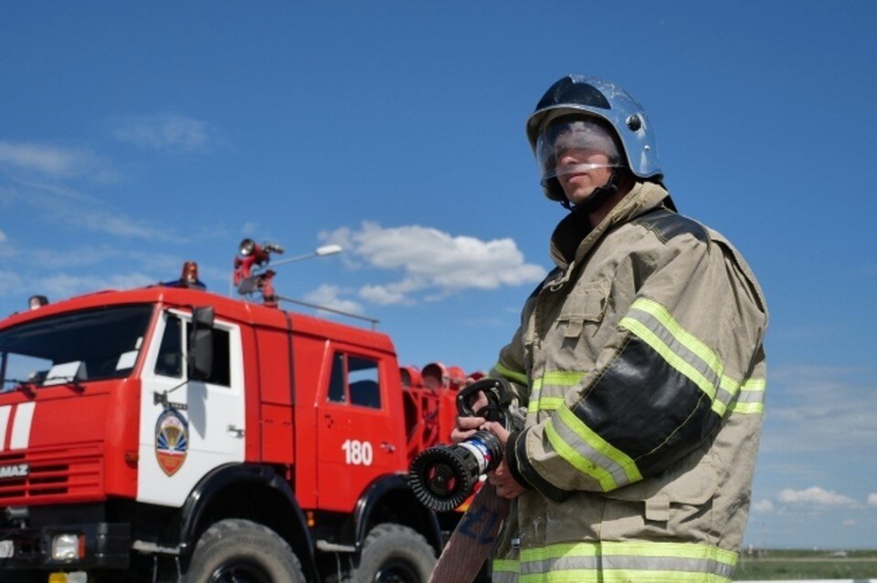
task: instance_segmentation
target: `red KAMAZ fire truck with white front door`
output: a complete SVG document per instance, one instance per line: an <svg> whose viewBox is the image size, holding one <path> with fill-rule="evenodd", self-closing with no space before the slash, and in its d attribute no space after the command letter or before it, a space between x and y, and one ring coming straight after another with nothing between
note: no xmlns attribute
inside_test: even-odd
<svg viewBox="0 0 877 583"><path fill-rule="evenodd" d="M0 580L426 580L459 514L406 472L466 375L276 307L249 244L236 279L267 306L187 265L0 321Z"/></svg>

